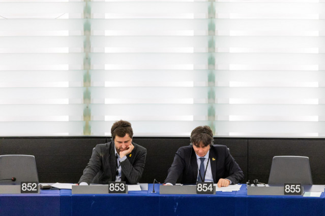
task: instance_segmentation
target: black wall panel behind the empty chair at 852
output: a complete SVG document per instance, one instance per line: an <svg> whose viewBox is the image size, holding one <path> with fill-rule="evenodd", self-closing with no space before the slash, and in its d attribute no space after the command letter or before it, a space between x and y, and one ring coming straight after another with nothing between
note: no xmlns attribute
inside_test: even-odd
<svg viewBox="0 0 325 216"><path fill-rule="evenodd" d="M106 138L4 138L0 155L34 155L39 181L77 183L92 149Z"/></svg>

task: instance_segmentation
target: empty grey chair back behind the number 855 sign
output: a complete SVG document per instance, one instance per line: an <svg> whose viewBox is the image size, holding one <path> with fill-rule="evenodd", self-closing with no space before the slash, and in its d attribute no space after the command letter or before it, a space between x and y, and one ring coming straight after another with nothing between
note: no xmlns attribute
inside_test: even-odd
<svg viewBox="0 0 325 216"><path fill-rule="evenodd" d="M308 157L275 156L273 158L268 184L285 183L313 184Z"/></svg>

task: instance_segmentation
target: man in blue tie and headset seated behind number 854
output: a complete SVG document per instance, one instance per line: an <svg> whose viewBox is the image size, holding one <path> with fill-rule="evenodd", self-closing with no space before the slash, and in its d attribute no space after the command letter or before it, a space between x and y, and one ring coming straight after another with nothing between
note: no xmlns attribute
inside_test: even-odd
<svg viewBox="0 0 325 216"><path fill-rule="evenodd" d="M182 184L214 182L219 188L237 184L244 178L228 148L213 145L213 132L209 126L199 126L192 131L191 145L176 152L164 184L175 185L181 175Z"/></svg>

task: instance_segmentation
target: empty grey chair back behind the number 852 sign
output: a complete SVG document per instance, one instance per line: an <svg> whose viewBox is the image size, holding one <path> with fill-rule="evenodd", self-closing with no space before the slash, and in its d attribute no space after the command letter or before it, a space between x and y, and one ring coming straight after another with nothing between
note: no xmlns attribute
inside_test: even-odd
<svg viewBox="0 0 325 216"><path fill-rule="evenodd" d="M20 185L20 182L38 182L33 155L0 155L0 184Z"/></svg>

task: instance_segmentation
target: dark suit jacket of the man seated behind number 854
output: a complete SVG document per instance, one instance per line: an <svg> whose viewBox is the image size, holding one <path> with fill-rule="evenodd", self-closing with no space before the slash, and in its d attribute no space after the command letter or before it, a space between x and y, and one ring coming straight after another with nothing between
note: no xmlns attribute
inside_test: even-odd
<svg viewBox="0 0 325 216"><path fill-rule="evenodd" d="M226 146L213 145L210 149L209 158L214 183L218 183L220 178L227 178L232 184L237 184L244 178L242 169L230 155ZM175 154L164 183L175 185L182 175L182 184L195 184L197 174L198 167L193 147L181 147Z"/></svg>

